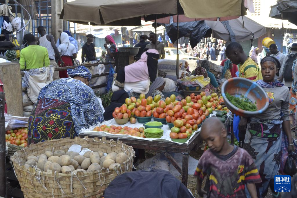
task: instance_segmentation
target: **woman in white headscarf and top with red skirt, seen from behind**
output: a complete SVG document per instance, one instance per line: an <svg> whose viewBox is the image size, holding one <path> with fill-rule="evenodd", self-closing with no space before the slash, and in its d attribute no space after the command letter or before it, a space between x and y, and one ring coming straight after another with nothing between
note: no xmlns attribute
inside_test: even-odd
<svg viewBox="0 0 297 198"><path fill-rule="evenodd" d="M64 61L64 67L72 66L72 59L76 58L76 50L75 46L69 42L68 34L62 32L61 37L61 45L58 46L58 50L61 54L61 58ZM59 67L61 67L60 61L58 62ZM60 78L68 78L67 71L60 71Z"/></svg>

